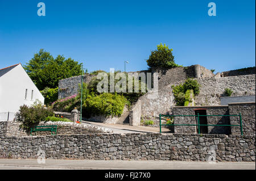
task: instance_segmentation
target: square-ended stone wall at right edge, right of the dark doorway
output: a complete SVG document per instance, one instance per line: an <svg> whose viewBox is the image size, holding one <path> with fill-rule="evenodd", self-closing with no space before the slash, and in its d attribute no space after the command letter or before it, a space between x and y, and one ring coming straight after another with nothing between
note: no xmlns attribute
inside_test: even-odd
<svg viewBox="0 0 256 181"><path fill-rule="evenodd" d="M229 104L230 115L242 115L242 129L243 134L255 135L255 102L251 103L230 103ZM238 117L230 117L231 124L240 124ZM240 134L240 127L232 127L232 134Z"/></svg>

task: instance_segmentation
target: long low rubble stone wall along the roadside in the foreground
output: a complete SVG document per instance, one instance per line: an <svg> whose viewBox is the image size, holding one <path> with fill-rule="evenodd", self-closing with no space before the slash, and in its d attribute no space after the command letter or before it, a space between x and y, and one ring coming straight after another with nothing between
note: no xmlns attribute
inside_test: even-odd
<svg viewBox="0 0 256 181"><path fill-rule="evenodd" d="M1 158L255 162L255 136L217 134L79 134L1 137Z"/></svg>

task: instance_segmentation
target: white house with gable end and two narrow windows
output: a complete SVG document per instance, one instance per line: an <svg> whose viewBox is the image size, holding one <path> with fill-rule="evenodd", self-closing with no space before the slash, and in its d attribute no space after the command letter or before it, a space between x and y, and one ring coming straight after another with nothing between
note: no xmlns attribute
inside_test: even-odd
<svg viewBox="0 0 256 181"><path fill-rule="evenodd" d="M30 106L44 97L21 64L0 69L0 112L17 112L23 104Z"/></svg>

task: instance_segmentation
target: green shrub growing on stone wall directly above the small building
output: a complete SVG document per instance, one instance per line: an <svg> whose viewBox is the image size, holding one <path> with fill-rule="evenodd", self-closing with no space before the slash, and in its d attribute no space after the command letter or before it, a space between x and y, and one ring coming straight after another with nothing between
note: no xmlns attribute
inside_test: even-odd
<svg viewBox="0 0 256 181"><path fill-rule="evenodd" d="M172 92L175 96L176 106L185 106L191 102L190 93L198 95L200 92L200 85L195 79L188 78L184 83L177 86L172 86Z"/></svg>

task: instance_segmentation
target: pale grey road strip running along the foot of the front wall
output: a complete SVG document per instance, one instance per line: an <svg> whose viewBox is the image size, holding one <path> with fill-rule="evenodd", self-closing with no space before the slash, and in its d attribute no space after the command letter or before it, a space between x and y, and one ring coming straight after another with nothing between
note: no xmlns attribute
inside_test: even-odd
<svg viewBox="0 0 256 181"><path fill-rule="evenodd" d="M255 170L255 162L105 161L46 159L0 159L1 170Z"/></svg>

